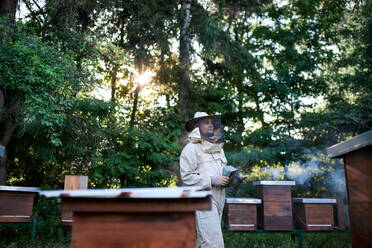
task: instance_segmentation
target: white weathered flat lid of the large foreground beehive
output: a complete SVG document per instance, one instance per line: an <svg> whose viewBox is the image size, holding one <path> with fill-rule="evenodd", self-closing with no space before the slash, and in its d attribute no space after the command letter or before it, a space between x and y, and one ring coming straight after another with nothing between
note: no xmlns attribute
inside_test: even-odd
<svg viewBox="0 0 372 248"><path fill-rule="evenodd" d="M45 197L71 198L204 198L210 191L201 191L201 187L178 188L122 188L122 189L84 189L84 190L44 190Z"/></svg>

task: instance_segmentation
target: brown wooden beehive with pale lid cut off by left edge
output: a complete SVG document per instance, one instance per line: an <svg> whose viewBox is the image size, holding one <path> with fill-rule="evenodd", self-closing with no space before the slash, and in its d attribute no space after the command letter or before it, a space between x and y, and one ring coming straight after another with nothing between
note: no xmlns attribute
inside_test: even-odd
<svg viewBox="0 0 372 248"><path fill-rule="evenodd" d="M39 188L0 186L0 222L30 222Z"/></svg>

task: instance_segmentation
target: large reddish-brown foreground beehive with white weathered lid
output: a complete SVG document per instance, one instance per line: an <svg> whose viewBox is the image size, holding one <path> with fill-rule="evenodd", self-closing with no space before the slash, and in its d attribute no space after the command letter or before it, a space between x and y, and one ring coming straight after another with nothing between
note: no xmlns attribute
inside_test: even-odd
<svg viewBox="0 0 372 248"><path fill-rule="evenodd" d="M211 210L201 187L49 190L73 212L71 248L195 247L195 212Z"/></svg>

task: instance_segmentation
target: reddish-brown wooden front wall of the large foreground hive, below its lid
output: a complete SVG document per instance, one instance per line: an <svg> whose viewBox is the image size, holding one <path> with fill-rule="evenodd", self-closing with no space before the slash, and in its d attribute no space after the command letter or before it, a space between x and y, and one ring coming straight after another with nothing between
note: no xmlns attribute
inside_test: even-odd
<svg viewBox="0 0 372 248"><path fill-rule="evenodd" d="M77 212L71 247L195 247L195 215Z"/></svg>

